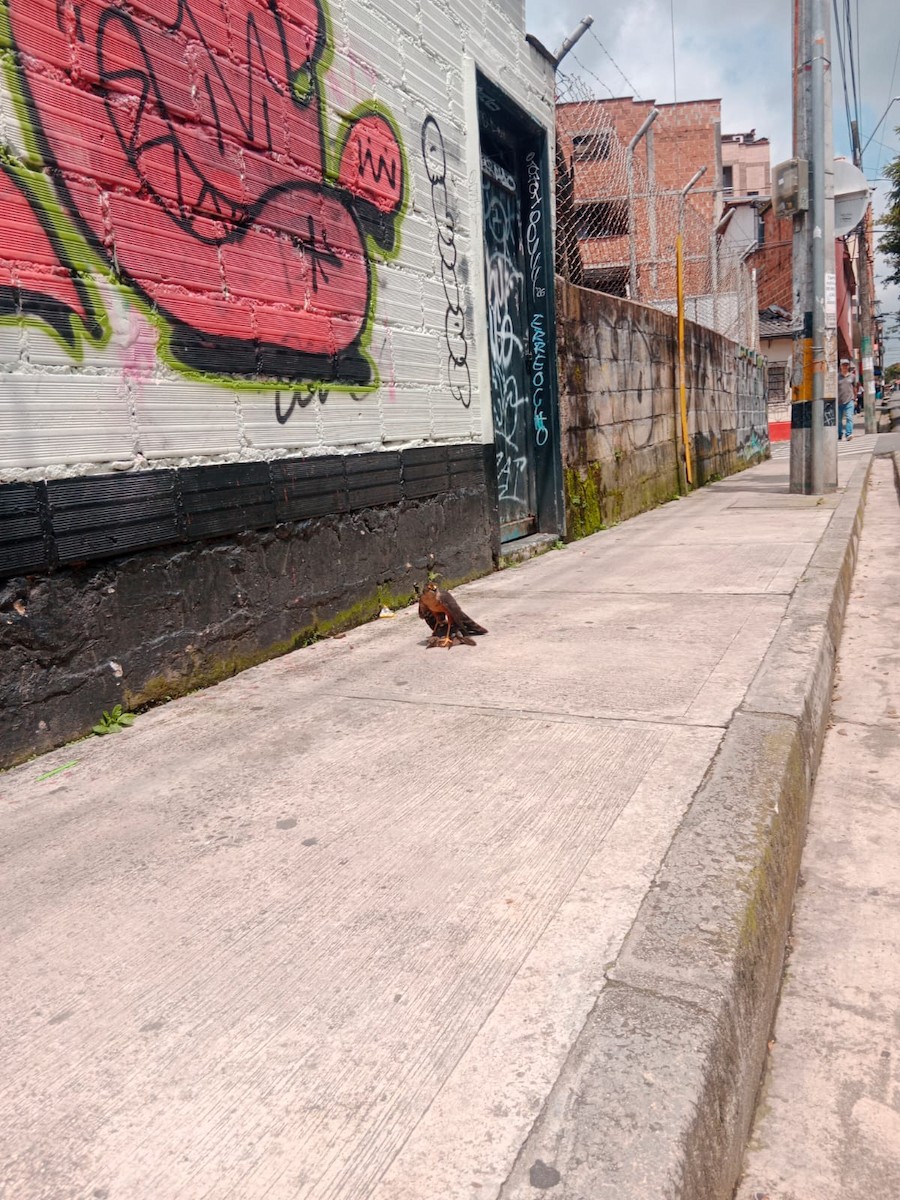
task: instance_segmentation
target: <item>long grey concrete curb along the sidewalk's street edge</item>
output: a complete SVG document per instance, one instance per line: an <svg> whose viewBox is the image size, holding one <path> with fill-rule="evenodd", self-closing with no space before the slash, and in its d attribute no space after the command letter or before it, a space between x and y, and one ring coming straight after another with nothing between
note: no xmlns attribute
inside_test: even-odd
<svg viewBox="0 0 900 1200"><path fill-rule="evenodd" d="M499 1200L730 1200L856 566L854 469Z"/></svg>

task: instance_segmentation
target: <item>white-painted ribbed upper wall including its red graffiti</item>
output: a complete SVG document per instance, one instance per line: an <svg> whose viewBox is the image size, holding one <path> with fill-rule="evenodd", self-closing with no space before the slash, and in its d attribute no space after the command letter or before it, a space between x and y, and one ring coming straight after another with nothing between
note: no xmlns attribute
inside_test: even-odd
<svg viewBox="0 0 900 1200"><path fill-rule="evenodd" d="M5 6L0 482L482 440L467 55L550 126L522 5Z"/></svg>

